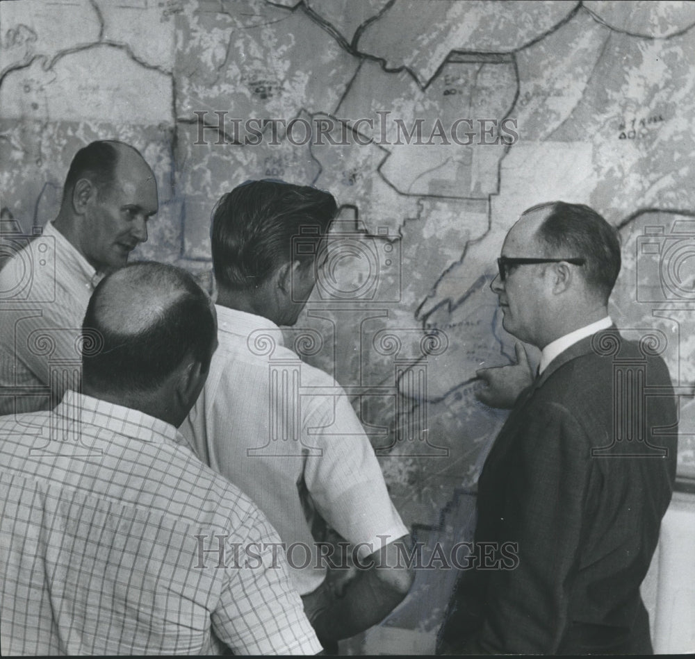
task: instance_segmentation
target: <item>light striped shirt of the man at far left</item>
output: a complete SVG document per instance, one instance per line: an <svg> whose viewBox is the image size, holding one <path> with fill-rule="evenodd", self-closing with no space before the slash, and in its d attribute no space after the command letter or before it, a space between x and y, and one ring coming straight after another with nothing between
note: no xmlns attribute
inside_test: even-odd
<svg viewBox="0 0 695 659"><path fill-rule="evenodd" d="M48 410L79 388L82 321L101 278L52 222L0 270L0 415Z"/></svg>

